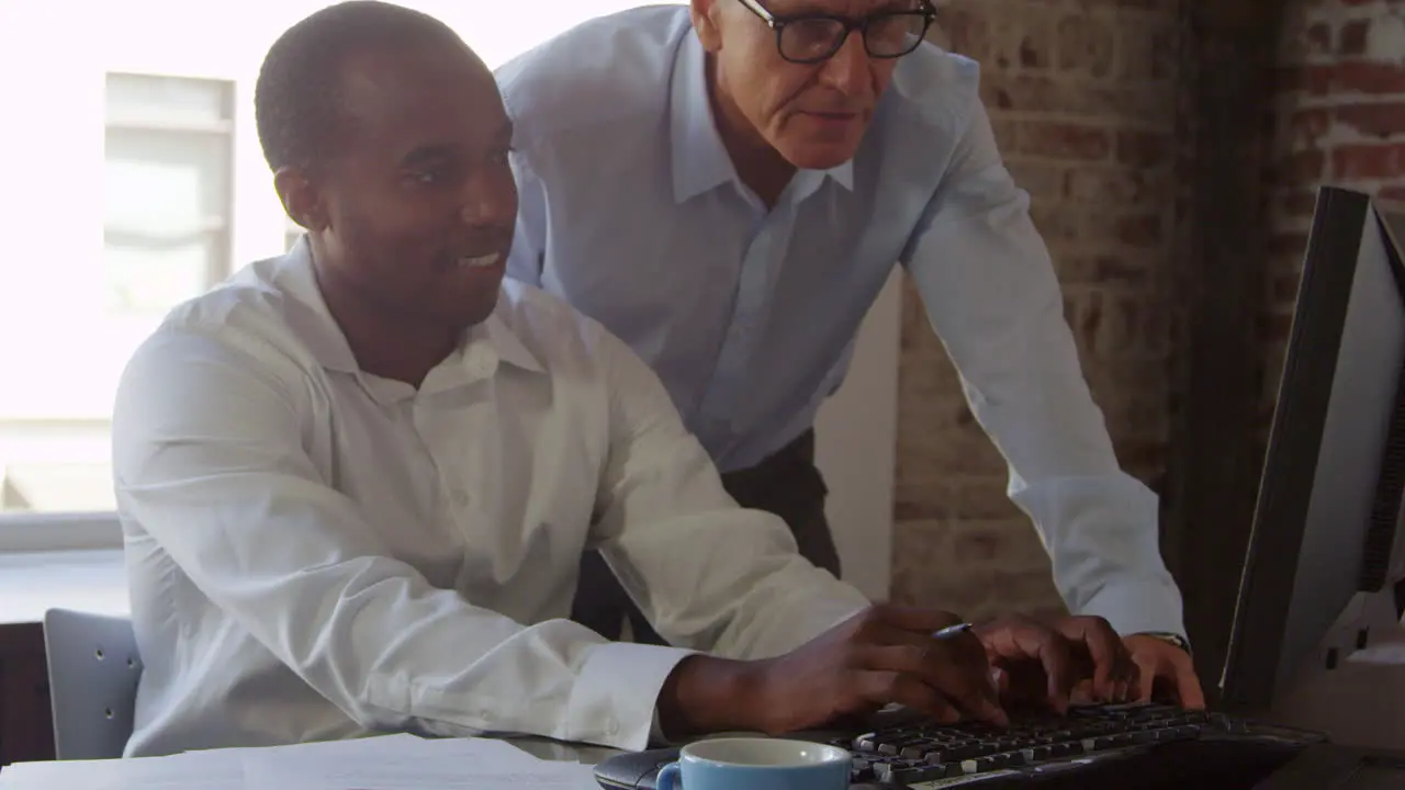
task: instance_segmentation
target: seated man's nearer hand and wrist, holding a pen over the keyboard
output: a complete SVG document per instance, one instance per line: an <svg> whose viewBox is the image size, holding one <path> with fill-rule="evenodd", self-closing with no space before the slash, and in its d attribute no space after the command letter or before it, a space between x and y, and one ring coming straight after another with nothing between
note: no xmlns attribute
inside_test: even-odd
<svg viewBox="0 0 1405 790"><path fill-rule="evenodd" d="M777 658L728 666L712 656L690 656L660 694L665 731L792 732L892 703L940 721L974 718L1003 727L1009 718L981 641L971 631L933 638L958 623L947 611L874 604Z"/></svg>

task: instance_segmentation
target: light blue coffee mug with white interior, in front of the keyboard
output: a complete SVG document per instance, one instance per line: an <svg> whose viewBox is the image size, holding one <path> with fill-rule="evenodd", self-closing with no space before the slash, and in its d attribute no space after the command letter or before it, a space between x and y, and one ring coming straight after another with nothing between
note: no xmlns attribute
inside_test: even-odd
<svg viewBox="0 0 1405 790"><path fill-rule="evenodd" d="M658 790L847 790L853 758L837 746L778 738L715 738L683 746ZM680 782L681 780L681 782Z"/></svg>

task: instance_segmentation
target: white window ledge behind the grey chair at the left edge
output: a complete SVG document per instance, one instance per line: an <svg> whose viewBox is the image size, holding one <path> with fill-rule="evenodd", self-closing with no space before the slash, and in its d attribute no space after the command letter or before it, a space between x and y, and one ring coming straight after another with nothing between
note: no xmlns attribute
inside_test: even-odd
<svg viewBox="0 0 1405 790"><path fill-rule="evenodd" d="M46 609L125 617L122 550L0 552L0 624L39 623Z"/></svg>

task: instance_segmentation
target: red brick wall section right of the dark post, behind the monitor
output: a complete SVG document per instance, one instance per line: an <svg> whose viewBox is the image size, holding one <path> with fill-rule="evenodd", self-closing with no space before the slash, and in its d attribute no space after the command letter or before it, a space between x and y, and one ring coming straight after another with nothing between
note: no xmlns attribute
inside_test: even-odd
<svg viewBox="0 0 1405 790"><path fill-rule="evenodd" d="M1331 183L1405 200L1405 3L1288 0L1269 177L1273 228L1266 311L1266 432L1283 368L1314 188Z"/></svg>

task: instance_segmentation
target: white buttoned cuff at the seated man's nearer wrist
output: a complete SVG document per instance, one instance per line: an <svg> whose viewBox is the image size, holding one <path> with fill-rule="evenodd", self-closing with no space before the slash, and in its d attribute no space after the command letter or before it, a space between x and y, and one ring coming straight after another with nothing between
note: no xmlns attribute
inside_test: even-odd
<svg viewBox="0 0 1405 790"><path fill-rule="evenodd" d="M594 645L570 693L563 739L631 752L648 748L652 735L662 735L663 682L693 652L631 642Z"/></svg>

